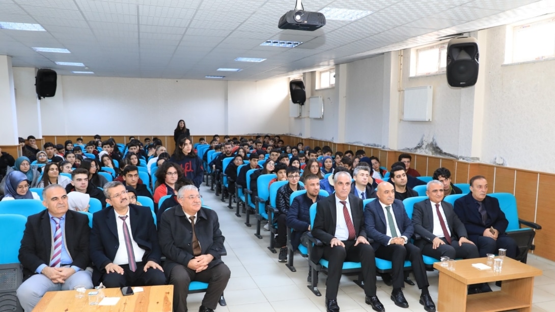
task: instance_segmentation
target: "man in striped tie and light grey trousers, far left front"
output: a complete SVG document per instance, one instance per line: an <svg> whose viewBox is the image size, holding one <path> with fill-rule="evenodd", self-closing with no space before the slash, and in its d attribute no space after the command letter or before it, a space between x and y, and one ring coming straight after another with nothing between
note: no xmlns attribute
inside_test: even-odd
<svg viewBox="0 0 555 312"><path fill-rule="evenodd" d="M67 193L58 184L43 190L43 212L27 218L19 262L24 282L17 289L23 310L30 312L47 291L93 287L89 260L89 218L68 210ZM54 247L52 246L54 243Z"/></svg>

